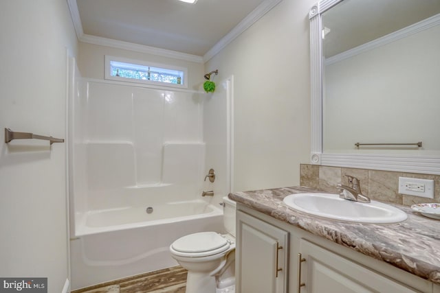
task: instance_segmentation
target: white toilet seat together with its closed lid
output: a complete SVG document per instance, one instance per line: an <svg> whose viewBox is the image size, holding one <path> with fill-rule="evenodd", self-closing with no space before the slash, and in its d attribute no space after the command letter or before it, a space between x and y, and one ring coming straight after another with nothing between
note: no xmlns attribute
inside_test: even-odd
<svg viewBox="0 0 440 293"><path fill-rule="evenodd" d="M206 257L228 250L230 241L216 232L201 232L180 237L170 248L181 257Z"/></svg>

